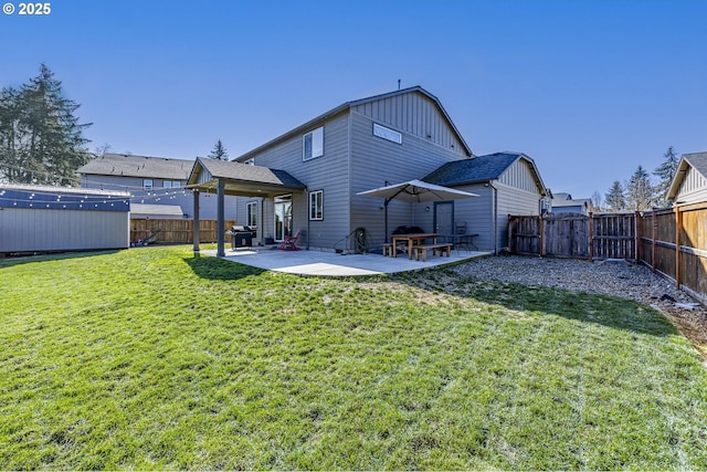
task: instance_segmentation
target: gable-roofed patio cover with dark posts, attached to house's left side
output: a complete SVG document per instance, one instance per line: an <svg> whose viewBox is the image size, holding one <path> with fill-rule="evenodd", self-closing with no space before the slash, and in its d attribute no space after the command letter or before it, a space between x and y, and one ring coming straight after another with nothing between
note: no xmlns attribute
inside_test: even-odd
<svg viewBox="0 0 707 472"><path fill-rule="evenodd" d="M194 253L199 253L199 195L217 193L217 255L225 256L224 197L273 197L288 191L303 191L306 186L284 170L228 160L197 158L187 188L193 190Z"/></svg>

